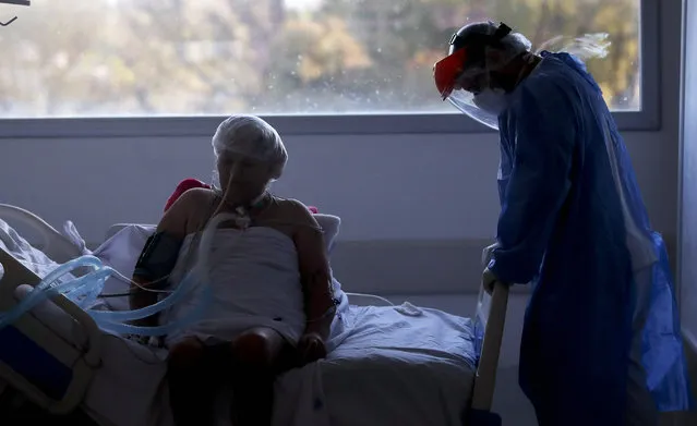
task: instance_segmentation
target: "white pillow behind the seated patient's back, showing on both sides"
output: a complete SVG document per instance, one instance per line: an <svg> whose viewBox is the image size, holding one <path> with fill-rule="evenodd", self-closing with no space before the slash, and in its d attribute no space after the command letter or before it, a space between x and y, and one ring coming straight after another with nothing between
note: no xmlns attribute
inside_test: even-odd
<svg viewBox="0 0 697 426"><path fill-rule="evenodd" d="M339 227L341 219L338 216L332 215L312 215L320 227L324 230L324 239L327 253L332 253L336 236L339 234ZM122 227L122 228L121 228ZM130 279L133 276L135 269L135 263L137 261L145 242L155 232L157 228L154 224L127 224L119 226L121 228L118 232L111 234L111 236L105 241L97 249L93 252L93 255L98 257L106 266L109 266L121 275ZM334 283L337 287L338 282ZM340 284L339 289L340 291ZM118 277L110 277L104 285L103 294L125 293L129 291L129 283L125 280ZM128 296L121 297L106 297L103 299L106 307L115 311L129 309Z"/></svg>

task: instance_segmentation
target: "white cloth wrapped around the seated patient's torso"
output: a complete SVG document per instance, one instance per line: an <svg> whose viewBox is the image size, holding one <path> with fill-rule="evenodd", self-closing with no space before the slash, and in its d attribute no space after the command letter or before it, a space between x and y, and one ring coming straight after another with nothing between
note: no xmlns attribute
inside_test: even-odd
<svg viewBox="0 0 697 426"><path fill-rule="evenodd" d="M183 277L193 236L182 244L172 282ZM160 320L177 320L195 309L206 285L213 290L213 302L195 322L168 336L168 345L188 336L229 341L252 327L268 327L291 343L298 341L305 316L298 253L289 236L263 227L219 229L212 240L208 268L208 282L195 277L192 293Z"/></svg>

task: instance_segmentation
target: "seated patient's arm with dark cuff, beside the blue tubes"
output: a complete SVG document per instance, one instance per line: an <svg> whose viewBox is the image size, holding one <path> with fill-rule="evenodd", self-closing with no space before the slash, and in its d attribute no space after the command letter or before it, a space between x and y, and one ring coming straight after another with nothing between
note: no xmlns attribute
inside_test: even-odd
<svg viewBox="0 0 697 426"><path fill-rule="evenodd" d="M160 219L159 223L157 224L157 229L155 230L155 234L165 234L161 238L160 242L157 243L160 244L160 246L154 246L152 247L152 249L173 251L175 248L177 248L178 253L179 247L173 247L172 245L176 244L172 244L172 242L181 242L183 241L184 236L187 236L187 224L189 218L191 217L195 206L200 205L199 203L201 202L201 198L202 194L199 191L190 190L182 194L182 196L179 197L179 199L177 199L177 202L171 205L171 207ZM166 242L164 241L165 239L167 240ZM148 240L148 243L151 240ZM153 242L155 242L155 240L153 240ZM165 244L169 245L169 247L164 247L163 245ZM146 249L148 249L147 244L145 247L143 247L143 253L145 253ZM141 255L143 255L143 253ZM170 271L167 271L166 275ZM129 304L131 309L140 309L155 304L157 302L157 293L143 291L139 288L139 285L143 288L161 288L165 284L165 282L163 282L164 280L166 280L165 277L157 277L155 279L153 279L153 277L145 277L139 273L139 269L136 267L136 270L133 273L132 281L137 283L137 285L133 283L131 284L131 294L129 296ZM156 326L157 315L152 315L147 318L143 318L135 321L135 324L137 324L139 326Z"/></svg>

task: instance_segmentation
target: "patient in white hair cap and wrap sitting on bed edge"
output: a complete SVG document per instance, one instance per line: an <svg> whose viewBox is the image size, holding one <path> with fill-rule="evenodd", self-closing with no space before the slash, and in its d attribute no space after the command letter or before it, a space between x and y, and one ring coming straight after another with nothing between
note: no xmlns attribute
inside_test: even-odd
<svg viewBox="0 0 697 426"><path fill-rule="evenodd" d="M196 263L206 223L235 215L214 233L208 279L185 301L139 325L188 315L211 287L213 302L203 317L165 340L176 424L214 423L215 385L225 372L235 395L232 423L267 425L275 377L326 355L335 312L329 266L308 208L268 192L288 158L276 131L259 118L233 115L218 126L213 149L219 188L189 190L165 212L134 271L133 281L144 289L133 289L130 303L134 309L154 304L157 293L145 290L157 288L163 276L179 284Z"/></svg>

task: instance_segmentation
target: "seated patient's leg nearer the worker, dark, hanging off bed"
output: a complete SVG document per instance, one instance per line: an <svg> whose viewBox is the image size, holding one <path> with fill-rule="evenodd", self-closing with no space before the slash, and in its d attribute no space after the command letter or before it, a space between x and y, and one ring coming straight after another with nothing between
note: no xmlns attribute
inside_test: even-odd
<svg viewBox="0 0 697 426"><path fill-rule="evenodd" d="M274 379L291 367L292 349L276 331L253 328L231 343L233 355L232 424L271 425Z"/></svg>

